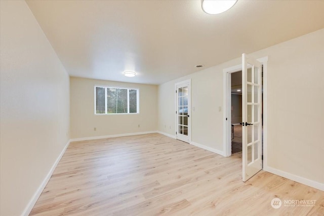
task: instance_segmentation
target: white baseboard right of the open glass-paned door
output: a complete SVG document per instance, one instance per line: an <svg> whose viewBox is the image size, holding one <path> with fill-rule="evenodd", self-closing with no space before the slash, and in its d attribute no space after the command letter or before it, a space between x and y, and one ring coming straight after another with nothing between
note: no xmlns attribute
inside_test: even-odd
<svg viewBox="0 0 324 216"><path fill-rule="evenodd" d="M275 169L275 168L272 168L269 166L263 167L263 170L267 171L267 172L271 172L271 173L279 175L279 176L282 176L282 177L285 177L285 178L288 178L288 179L291 179L295 182L307 185L309 187L324 191L324 184L312 181L310 179L307 179L307 178L304 178L304 177L301 177L298 175L294 175L289 172L281 171L281 170L278 170L278 169Z"/></svg>

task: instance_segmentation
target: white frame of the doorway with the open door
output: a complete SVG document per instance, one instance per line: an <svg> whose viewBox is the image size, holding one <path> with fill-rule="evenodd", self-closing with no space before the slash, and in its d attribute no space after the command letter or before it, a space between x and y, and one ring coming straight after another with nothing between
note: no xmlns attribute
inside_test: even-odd
<svg viewBox="0 0 324 216"><path fill-rule="evenodd" d="M258 58L263 64L263 167L267 167L267 76L268 56ZM242 70L242 64L223 69L223 152L225 157L231 156L231 74ZM226 120L227 119L227 120Z"/></svg>

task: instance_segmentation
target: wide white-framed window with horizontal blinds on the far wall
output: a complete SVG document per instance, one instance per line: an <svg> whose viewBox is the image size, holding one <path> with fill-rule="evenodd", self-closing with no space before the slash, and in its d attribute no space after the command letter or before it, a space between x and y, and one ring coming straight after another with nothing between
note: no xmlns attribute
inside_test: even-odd
<svg viewBox="0 0 324 216"><path fill-rule="evenodd" d="M95 114L139 113L139 90L95 86Z"/></svg>

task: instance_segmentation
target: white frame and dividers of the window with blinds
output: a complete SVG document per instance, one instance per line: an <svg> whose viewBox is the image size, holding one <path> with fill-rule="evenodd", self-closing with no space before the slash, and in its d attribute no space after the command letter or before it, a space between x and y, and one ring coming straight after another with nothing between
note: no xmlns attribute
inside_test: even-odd
<svg viewBox="0 0 324 216"><path fill-rule="evenodd" d="M105 88L105 113L96 113L96 87ZM137 105L137 113L107 113L107 88L113 88L113 89L127 89L127 106L128 106L128 112L129 110L129 90L136 90L136 105ZM105 116L105 115L136 115L140 114L140 89L139 88L133 88L133 87L120 87L120 86L104 86L104 85L95 85L94 86L94 114L98 116Z"/></svg>

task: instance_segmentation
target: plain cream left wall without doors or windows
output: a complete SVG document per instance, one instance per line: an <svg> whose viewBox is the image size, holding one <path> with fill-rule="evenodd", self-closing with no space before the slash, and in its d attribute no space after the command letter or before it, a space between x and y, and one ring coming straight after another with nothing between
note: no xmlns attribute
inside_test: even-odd
<svg viewBox="0 0 324 216"><path fill-rule="evenodd" d="M0 214L21 215L68 142L69 77L26 3L0 2Z"/></svg>

